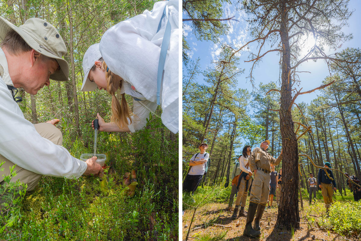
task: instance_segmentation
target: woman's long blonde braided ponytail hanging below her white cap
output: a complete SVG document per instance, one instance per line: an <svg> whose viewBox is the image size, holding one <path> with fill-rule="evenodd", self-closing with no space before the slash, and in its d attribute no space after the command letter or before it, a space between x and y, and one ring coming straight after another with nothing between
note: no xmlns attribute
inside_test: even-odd
<svg viewBox="0 0 361 241"><path fill-rule="evenodd" d="M103 62L102 68L106 70L107 65ZM119 102L117 97L115 96L115 92L122 87L122 81L119 83L119 87L116 87L115 83L115 74L111 72L109 69L105 71L106 77L106 90L110 95L112 95L112 118L110 121L116 122L119 128L126 127L128 123L128 118L130 123L132 122L130 115L131 111L128 106L127 100L125 99L124 93L122 94L122 103Z"/></svg>

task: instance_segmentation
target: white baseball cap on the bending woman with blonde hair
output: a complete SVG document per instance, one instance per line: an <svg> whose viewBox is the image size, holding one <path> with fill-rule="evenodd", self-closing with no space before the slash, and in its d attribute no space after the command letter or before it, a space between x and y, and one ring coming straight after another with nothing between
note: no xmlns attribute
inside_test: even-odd
<svg viewBox="0 0 361 241"><path fill-rule="evenodd" d="M101 53L99 51L99 43L93 44L85 52L83 57L84 80L81 91L93 91L96 89L96 83L91 82L90 79L88 79L88 75L95 61L99 60L100 58Z"/></svg>

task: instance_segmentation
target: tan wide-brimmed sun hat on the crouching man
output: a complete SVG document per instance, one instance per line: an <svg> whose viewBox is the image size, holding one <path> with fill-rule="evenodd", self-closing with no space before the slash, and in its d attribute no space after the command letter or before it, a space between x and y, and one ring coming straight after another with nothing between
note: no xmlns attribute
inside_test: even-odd
<svg viewBox="0 0 361 241"><path fill-rule="evenodd" d="M8 20L0 17L0 40L4 40L6 34L11 30L16 31L29 46L47 57L56 59L60 70L50 75L50 78L57 81L69 80L69 64L62 56L66 54L64 40L56 28L40 18L29 18L19 27Z"/></svg>

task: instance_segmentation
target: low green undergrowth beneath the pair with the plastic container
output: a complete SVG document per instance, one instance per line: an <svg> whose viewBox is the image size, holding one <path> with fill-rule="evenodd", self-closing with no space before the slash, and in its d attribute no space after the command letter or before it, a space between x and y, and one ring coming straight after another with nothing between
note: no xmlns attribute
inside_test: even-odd
<svg viewBox="0 0 361 241"><path fill-rule="evenodd" d="M79 157L92 153L91 138L92 130L65 135L63 146ZM12 225L1 220L0 240L178 240L178 134L157 118L137 133L100 132L97 150L112 167L106 193L96 176L44 176L13 207L21 210ZM129 198L122 183L132 169L138 186Z"/></svg>

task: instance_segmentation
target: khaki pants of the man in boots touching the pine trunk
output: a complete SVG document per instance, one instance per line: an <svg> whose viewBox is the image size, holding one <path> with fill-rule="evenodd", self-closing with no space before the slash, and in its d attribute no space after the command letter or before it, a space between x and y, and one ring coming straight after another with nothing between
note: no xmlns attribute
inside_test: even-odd
<svg viewBox="0 0 361 241"><path fill-rule="evenodd" d="M256 204L266 205L268 201L268 194L270 192L270 180L269 173L257 170L255 179L252 183L251 198L249 202Z"/></svg>

